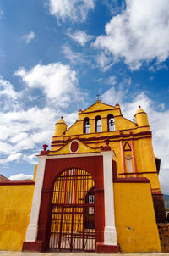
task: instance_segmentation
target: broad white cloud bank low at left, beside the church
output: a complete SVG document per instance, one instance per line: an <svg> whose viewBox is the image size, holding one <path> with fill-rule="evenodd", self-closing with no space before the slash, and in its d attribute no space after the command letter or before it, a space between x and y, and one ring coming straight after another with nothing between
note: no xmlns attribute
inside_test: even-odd
<svg viewBox="0 0 169 256"><path fill-rule="evenodd" d="M42 144L51 142L54 124L60 116L58 110L47 107L0 112L0 164L13 161L35 164L35 154L40 153Z"/></svg>

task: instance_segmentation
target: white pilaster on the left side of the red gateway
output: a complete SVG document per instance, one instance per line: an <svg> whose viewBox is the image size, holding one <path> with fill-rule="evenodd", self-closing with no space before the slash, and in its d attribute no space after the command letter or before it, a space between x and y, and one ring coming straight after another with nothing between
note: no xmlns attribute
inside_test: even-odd
<svg viewBox="0 0 169 256"><path fill-rule="evenodd" d="M41 189L43 185L43 178L46 166L46 157L41 156L39 158L39 163L37 167L37 173L35 178L35 190L32 202L31 214L30 214L30 224L26 231L25 242L35 242L38 230L38 219L41 205Z"/></svg>

